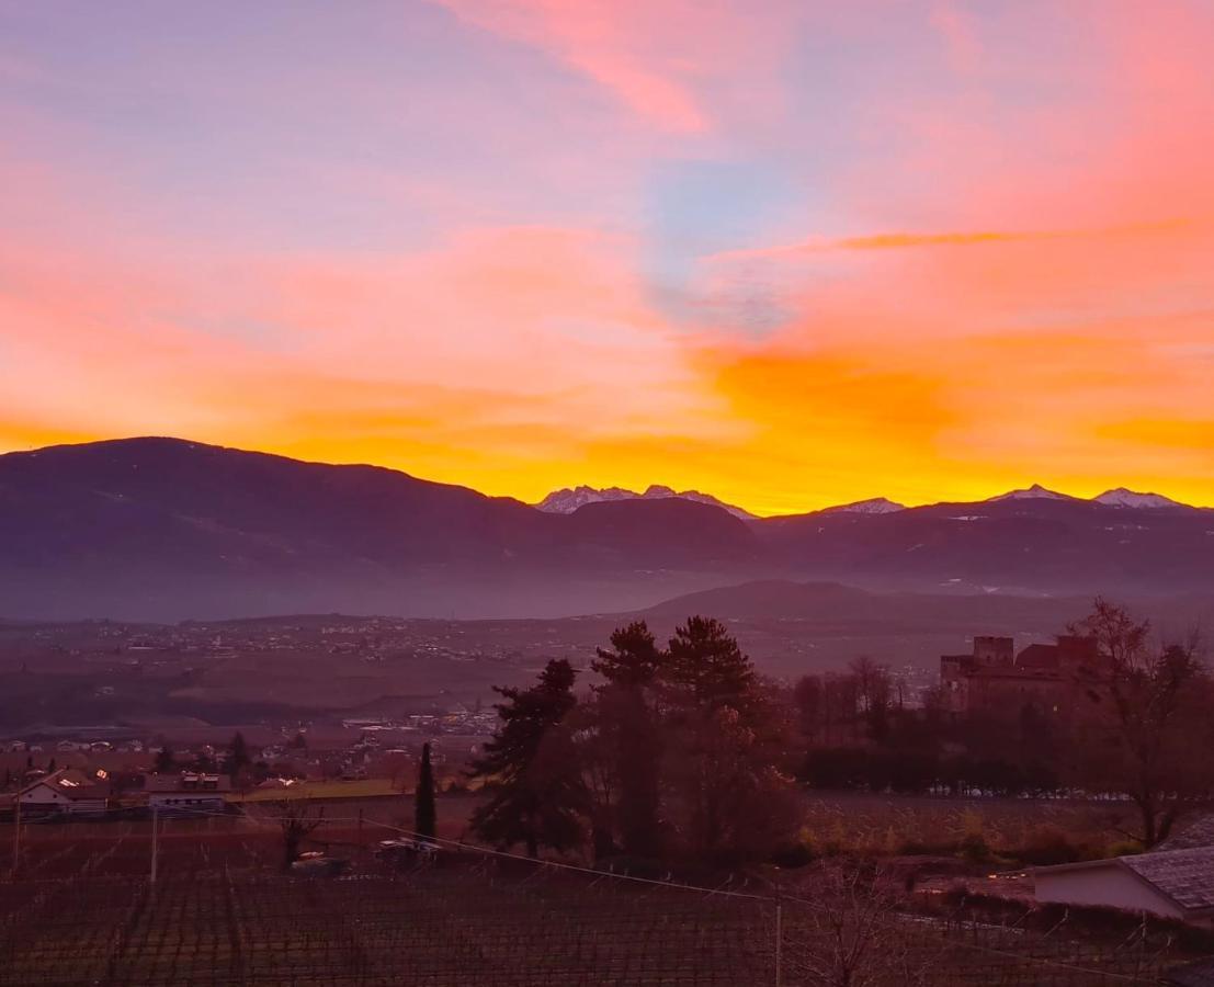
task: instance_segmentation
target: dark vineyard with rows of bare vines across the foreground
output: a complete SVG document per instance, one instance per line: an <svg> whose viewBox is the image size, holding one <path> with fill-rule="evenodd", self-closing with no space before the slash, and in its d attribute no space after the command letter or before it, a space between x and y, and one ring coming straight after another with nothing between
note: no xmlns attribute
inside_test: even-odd
<svg viewBox="0 0 1214 987"><path fill-rule="evenodd" d="M357 838L367 840L359 845ZM1161 983L1195 959L1165 931L909 912L836 887L705 891L477 853L396 870L334 830L341 878L278 872L263 830L32 845L0 883L4 985L826 985L861 946L869 985Z"/></svg>

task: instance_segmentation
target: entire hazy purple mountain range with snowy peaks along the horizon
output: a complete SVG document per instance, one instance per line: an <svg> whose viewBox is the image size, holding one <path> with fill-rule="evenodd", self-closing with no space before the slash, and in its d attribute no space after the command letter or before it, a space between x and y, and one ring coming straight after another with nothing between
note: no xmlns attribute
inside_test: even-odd
<svg viewBox="0 0 1214 987"><path fill-rule="evenodd" d="M603 493L579 488L589 493ZM574 499L579 489L571 493ZM0 455L0 614L634 611L761 579L946 594L1214 591L1214 511L1033 487L756 518L705 494L538 507L375 466L174 438ZM694 495L692 495L694 494Z"/></svg>

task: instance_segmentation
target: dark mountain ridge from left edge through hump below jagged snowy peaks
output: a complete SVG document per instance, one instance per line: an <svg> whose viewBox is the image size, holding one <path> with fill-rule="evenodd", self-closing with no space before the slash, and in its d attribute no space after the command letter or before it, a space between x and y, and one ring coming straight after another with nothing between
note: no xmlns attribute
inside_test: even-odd
<svg viewBox="0 0 1214 987"><path fill-rule="evenodd" d="M393 470L174 438L0 456L0 613L141 618L577 612L600 595L652 600L637 567L704 572L760 551L743 522L687 500L552 515Z"/></svg>

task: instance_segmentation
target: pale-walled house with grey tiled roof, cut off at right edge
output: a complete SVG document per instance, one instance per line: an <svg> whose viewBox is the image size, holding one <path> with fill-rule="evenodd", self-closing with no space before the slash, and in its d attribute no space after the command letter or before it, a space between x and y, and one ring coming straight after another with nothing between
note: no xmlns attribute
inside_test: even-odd
<svg viewBox="0 0 1214 987"><path fill-rule="evenodd" d="M1033 879L1039 902L1119 908L1214 929L1214 846L1038 867Z"/></svg>

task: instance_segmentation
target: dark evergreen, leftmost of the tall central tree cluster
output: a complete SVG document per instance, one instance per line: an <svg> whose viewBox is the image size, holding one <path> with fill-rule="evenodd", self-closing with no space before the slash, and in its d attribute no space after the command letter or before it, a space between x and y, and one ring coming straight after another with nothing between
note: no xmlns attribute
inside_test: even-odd
<svg viewBox="0 0 1214 987"><path fill-rule="evenodd" d="M493 784L493 795L472 815L472 829L489 843L563 850L582 841L579 813L586 794L572 732L565 720L577 705L577 673L551 659L531 688L495 688L501 726L472 762L469 776Z"/></svg>

